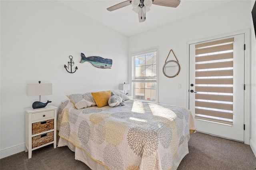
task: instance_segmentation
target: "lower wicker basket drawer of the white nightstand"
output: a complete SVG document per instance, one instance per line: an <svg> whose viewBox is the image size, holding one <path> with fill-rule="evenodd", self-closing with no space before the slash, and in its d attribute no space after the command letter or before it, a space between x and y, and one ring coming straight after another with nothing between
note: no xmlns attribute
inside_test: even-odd
<svg viewBox="0 0 256 170"><path fill-rule="evenodd" d="M54 131L32 137L32 148L53 142Z"/></svg>

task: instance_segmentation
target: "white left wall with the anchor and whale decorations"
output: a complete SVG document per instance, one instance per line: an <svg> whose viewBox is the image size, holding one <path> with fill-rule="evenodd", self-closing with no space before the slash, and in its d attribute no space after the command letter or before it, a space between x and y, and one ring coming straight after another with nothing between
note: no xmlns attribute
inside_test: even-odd
<svg viewBox="0 0 256 170"><path fill-rule="evenodd" d="M41 101L58 107L65 95L118 89L128 77L128 38L58 1L0 1L1 158L23 151L24 109L39 96L26 95L27 83L52 83ZM111 69L79 63L80 53L113 60ZM74 58L76 73L64 64Z"/></svg>

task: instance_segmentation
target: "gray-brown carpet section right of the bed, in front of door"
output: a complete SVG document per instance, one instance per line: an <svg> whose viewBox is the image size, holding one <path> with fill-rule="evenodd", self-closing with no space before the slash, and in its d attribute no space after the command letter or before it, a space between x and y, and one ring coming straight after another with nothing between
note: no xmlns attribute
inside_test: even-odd
<svg viewBox="0 0 256 170"><path fill-rule="evenodd" d="M249 145L203 133L193 133L178 170L255 170Z"/></svg>

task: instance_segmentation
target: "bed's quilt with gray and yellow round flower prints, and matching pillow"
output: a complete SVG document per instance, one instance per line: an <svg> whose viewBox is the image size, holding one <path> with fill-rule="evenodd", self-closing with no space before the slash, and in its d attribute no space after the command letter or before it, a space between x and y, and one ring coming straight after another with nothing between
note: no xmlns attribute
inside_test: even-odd
<svg viewBox="0 0 256 170"><path fill-rule="evenodd" d="M173 170L188 154L196 129L188 109L136 100L98 107L90 94L68 96L57 130L58 147L68 146L92 170Z"/></svg>

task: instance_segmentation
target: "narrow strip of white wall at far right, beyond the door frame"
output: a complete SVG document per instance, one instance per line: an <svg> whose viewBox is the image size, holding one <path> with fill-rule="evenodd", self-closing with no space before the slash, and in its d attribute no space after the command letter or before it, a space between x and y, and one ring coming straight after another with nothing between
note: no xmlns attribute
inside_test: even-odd
<svg viewBox="0 0 256 170"><path fill-rule="evenodd" d="M252 0L252 8L254 6L255 0ZM251 8L251 9L252 9ZM252 148L252 151L254 152L254 155L256 156L256 36L254 32L254 26L253 22L251 20L252 24L252 38L251 38L251 139L250 139L250 146ZM256 28L255 28L256 29Z"/></svg>

